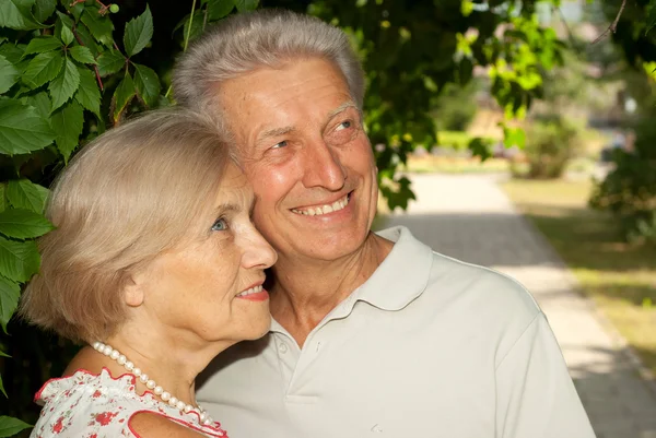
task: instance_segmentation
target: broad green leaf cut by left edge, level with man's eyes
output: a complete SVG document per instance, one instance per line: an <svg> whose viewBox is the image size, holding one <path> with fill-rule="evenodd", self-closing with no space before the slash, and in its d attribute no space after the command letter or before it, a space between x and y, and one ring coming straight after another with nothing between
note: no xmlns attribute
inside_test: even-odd
<svg viewBox="0 0 656 438"><path fill-rule="evenodd" d="M25 154L54 140L50 126L36 109L17 100L0 99L0 153Z"/></svg>

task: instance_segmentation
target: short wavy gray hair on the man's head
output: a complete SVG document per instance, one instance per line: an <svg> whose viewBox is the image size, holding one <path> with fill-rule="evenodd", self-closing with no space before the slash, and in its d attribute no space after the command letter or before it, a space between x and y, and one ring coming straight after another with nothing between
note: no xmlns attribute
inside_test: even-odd
<svg viewBox="0 0 656 438"><path fill-rule="evenodd" d="M362 109L364 73L347 34L285 10L239 13L214 25L179 59L173 76L175 98L188 108L212 107L222 81L306 57L333 62Z"/></svg>

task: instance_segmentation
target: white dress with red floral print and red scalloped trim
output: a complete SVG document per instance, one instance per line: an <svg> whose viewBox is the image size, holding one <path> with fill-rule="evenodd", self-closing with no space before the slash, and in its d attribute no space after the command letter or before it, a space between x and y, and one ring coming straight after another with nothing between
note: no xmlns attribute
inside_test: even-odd
<svg viewBox="0 0 656 438"><path fill-rule="evenodd" d="M43 405L31 438L139 438L130 417L152 412L212 438L227 438L219 423L201 425L196 412L185 414L162 402L152 392L134 391L134 375L113 378L103 368L99 375L78 370L73 376L50 379L36 393Z"/></svg>

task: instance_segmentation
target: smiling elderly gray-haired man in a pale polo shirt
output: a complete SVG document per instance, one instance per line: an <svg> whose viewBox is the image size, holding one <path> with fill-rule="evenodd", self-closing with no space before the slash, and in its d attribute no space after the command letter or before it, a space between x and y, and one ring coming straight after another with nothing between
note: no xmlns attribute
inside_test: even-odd
<svg viewBox="0 0 656 438"><path fill-rule="evenodd" d="M364 78L339 29L291 12L221 22L180 60L279 253L267 336L207 370L199 400L237 438L591 438L544 315L513 280L379 234Z"/></svg>

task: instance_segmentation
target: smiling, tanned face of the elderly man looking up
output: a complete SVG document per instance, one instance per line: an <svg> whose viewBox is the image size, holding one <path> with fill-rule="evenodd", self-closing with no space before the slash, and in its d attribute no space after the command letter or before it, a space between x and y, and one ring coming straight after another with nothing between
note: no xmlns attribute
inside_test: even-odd
<svg viewBox="0 0 656 438"><path fill-rule="evenodd" d="M360 248L378 188L341 72L296 59L226 81L219 93L255 191L254 223L281 259L336 260Z"/></svg>

